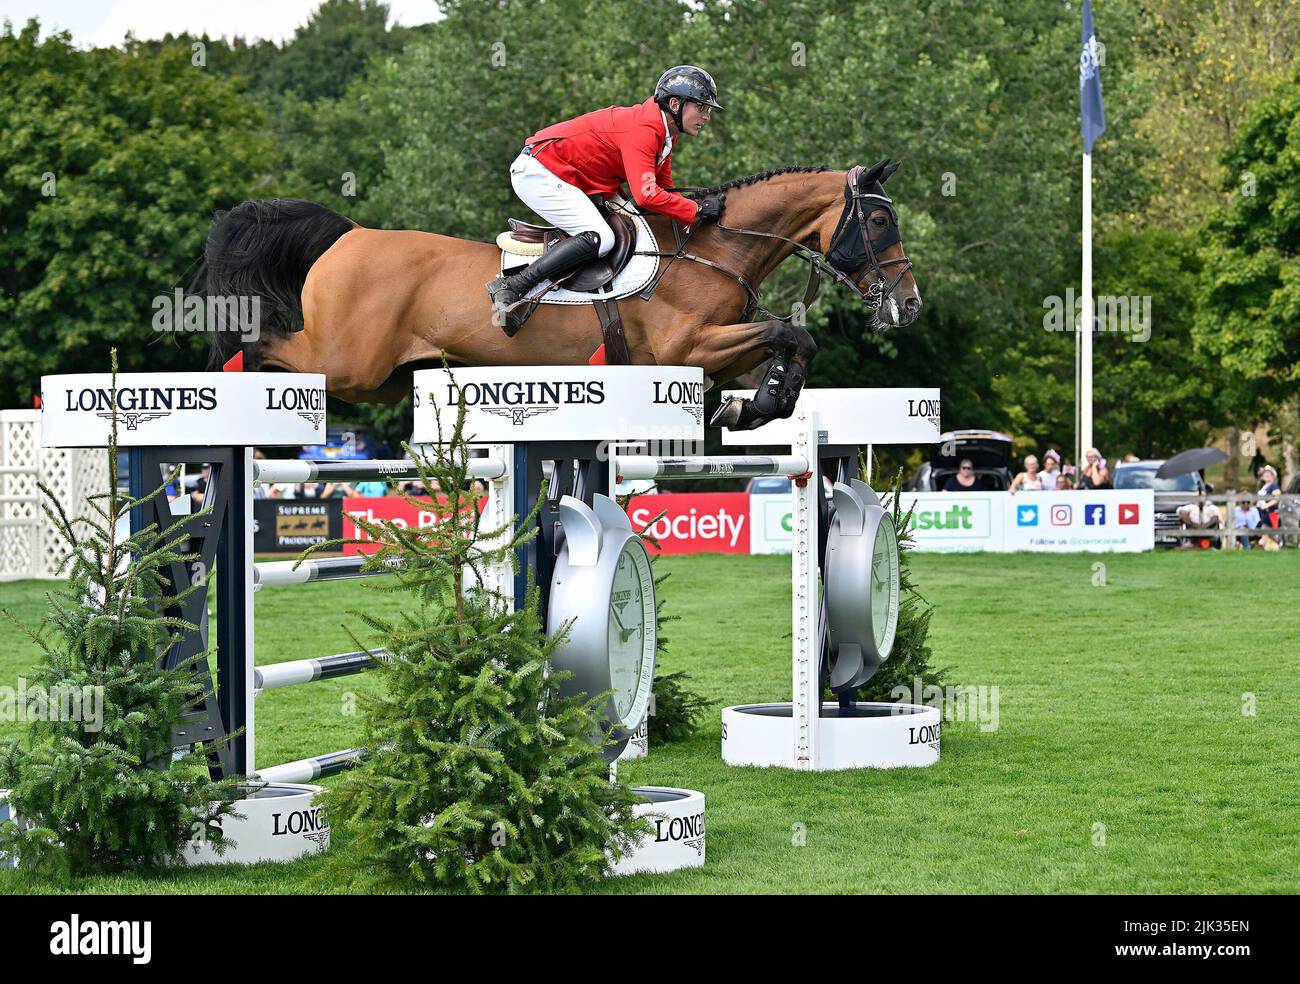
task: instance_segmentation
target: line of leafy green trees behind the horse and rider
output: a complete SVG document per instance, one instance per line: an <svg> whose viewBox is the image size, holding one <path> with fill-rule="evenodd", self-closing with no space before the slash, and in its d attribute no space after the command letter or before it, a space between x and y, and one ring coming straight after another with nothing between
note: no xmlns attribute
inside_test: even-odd
<svg viewBox="0 0 1300 984"><path fill-rule="evenodd" d="M725 109L679 185L783 164L904 160L890 181L926 308L872 334L828 290L812 385L940 386L944 425L1074 442L1074 334L1049 330L1080 263L1078 4L962 0L474 0L420 27L326 0L282 44L0 34L0 406L42 373L200 368L156 333L212 213L321 201L363 225L488 239L521 205L507 165L546 123L708 68ZM1096 338L1108 455L1165 456L1300 428L1300 14L1288 0L1098 0L1108 131L1093 152ZM801 270L775 294L798 298ZM1123 307L1119 307L1119 302ZM408 408L358 408L389 437ZM915 452L913 452L915 454ZM1286 461L1283 461L1286 456ZM1236 459L1230 463L1232 482Z"/></svg>

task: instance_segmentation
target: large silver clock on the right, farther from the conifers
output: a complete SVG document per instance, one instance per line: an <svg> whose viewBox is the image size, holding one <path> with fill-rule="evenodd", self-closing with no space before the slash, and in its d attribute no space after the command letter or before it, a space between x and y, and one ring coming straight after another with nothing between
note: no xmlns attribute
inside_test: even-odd
<svg viewBox="0 0 1300 984"><path fill-rule="evenodd" d="M831 689L867 682L893 651L898 630L898 536L893 517L866 482L836 482L827 536L827 624Z"/></svg>

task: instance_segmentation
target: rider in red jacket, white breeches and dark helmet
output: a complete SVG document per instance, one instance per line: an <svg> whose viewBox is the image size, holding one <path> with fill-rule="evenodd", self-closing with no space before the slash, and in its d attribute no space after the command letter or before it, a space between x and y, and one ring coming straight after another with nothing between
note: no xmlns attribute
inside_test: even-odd
<svg viewBox="0 0 1300 984"><path fill-rule="evenodd" d="M654 95L640 105L597 109L528 138L510 165L510 183L529 208L571 238L519 273L488 283L494 308L506 313L507 335L521 328L512 308L524 307L520 302L533 287L614 248L614 233L589 195L607 198L627 181L638 205L686 225L722 214L720 195L694 201L668 190L677 134L697 136L714 109L722 107L712 75L677 65L659 77Z"/></svg>

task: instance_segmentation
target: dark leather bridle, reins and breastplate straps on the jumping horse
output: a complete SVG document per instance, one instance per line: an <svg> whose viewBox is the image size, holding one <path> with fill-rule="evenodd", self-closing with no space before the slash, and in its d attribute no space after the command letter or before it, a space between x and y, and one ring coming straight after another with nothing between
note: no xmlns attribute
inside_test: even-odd
<svg viewBox="0 0 1300 984"><path fill-rule="evenodd" d="M853 168L845 178L844 212L840 213L840 220L836 222L835 233L831 237L831 248L827 250L826 256L815 250L810 250L805 243L797 242L785 235L777 235L776 233L766 233L760 229L729 226L722 220L715 222L715 225L724 233L763 239L779 239L793 246L793 255L809 265L809 281L807 286L803 289L803 300L801 302L805 312L812 302L816 300L816 295L822 290L822 277L828 276L836 283L842 283L845 287L857 294L863 303L871 308L871 313L875 317L872 328L880 328L883 324L880 321L880 308L884 304L885 298L889 296L893 289L898 286L900 281L902 281L907 270L911 269L911 260L909 260L907 256L900 256L893 260L880 259L879 253L881 251L902 242L902 237L898 231L898 211L894 208L893 200L885 194L880 182L872 183L868 191L862 190L862 172L863 166L859 164ZM690 188L685 191L697 190ZM863 205L864 201L874 204ZM878 239L872 239L867 229L867 216L876 209L884 209L888 212L890 222L889 229L884 235ZM641 292L641 296L649 298L649 295L659 285L659 281L663 279L663 274L667 272L668 265L673 260L690 260L692 263L703 264L705 266L711 266L712 269L724 273L745 289L745 292L749 295L749 303L745 305L745 313L741 316L741 320L748 321L757 312L763 315L764 318L770 318L772 321L793 321L796 312L790 312L783 317L764 308L759 302L758 290L742 273L738 273L737 270L724 266L723 264L705 256L686 252L686 246L702 225L702 222L696 222L690 227L690 231L682 237L681 226L676 220L673 220L672 233L677 240L677 248L673 252L638 251L638 256L656 256L668 261L660 268L650 286ZM890 281L885 274L885 268L900 264L902 268ZM866 290L863 290L858 286L861 278L857 278L853 274L859 270L864 273L867 266L870 266L872 273L875 273L875 279L867 286Z"/></svg>

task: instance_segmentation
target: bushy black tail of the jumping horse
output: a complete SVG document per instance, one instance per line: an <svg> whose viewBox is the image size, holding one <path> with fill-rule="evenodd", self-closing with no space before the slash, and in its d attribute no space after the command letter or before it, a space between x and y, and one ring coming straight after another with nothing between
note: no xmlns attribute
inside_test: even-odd
<svg viewBox="0 0 1300 984"><path fill-rule="evenodd" d="M356 227L325 205L300 199L244 201L217 212L204 250L204 292L221 298L259 298L260 316L255 339L261 333L287 334L303 325L303 283L334 242ZM257 342L243 333L208 334L208 368L220 369L240 350L247 350L248 369L256 368Z"/></svg>

